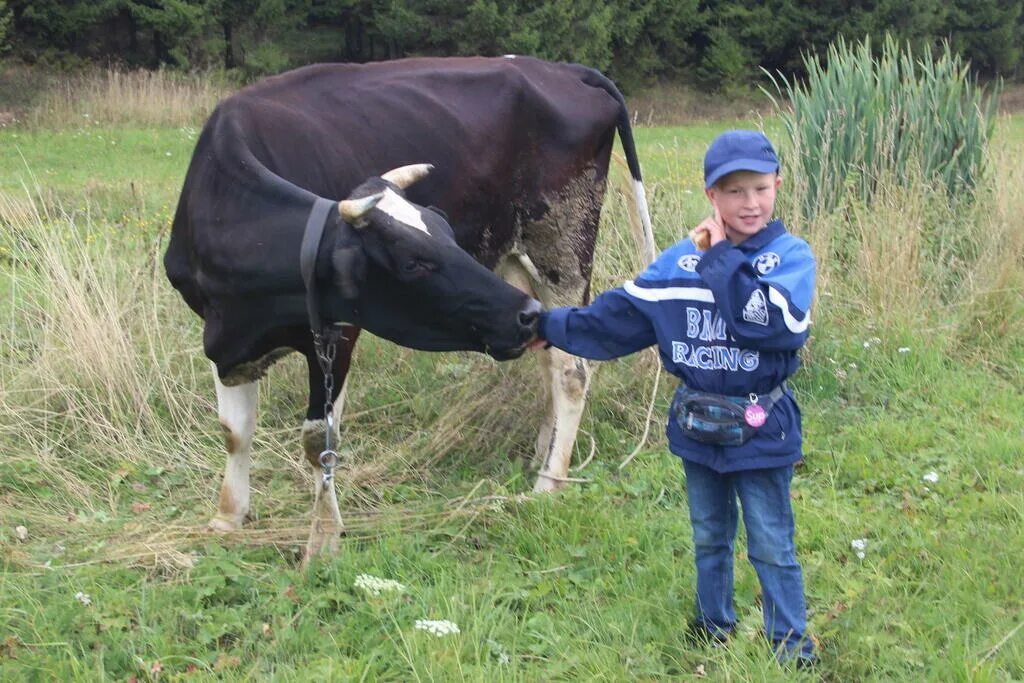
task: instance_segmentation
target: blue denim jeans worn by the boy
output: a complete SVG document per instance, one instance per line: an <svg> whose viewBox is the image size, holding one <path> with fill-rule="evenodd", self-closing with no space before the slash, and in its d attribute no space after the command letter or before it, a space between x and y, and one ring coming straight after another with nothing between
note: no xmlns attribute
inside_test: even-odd
<svg viewBox="0 0 1024 683"><path fill-rule="evenodd" d="M732 559L736 499L746 528L746 556L761 582L765 633L780 658L810 655L804 577L794 545L793 466L720 473L683 460L697 565L697 624L724 637L736 624Z"/></svg>

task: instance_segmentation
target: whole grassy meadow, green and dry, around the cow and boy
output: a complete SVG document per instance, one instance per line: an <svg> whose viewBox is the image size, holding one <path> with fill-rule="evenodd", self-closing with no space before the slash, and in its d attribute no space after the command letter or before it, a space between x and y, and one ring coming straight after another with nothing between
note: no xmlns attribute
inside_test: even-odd
<svg viewBox="0 0 1024 683"><path fill-rule="evenodd" d="M207 532L212 378L160 263L202 116L132 123L91 101L0 129L0 679L1024 679L1024 118L1000 120L973 205L892 188L793 221L821 264L794 506L822 664L796 673L761 639L742 542L737 637L686 637L693 549L664 377L624 465L648 354L596 374L577 465L594 458L572 473L588 483L530 497L531 359L368 335L343 422L348 535L305 572L304 364L287 358L260 384L257 519ZM757 123L637 130L660 247L705 213L707 143ZM616 173L597 290L638 267Z"/></svg>

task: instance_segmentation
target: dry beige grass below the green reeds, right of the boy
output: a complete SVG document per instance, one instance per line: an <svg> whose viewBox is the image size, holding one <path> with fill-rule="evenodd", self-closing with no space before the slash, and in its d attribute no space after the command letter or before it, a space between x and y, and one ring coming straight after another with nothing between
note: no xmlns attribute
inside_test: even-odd
<svg viewBox="0 0 1024 683"><path fill-rule="evenodd" d="M972 353L1024 334L1020 153L990 151L987 183L955 206L919 173L908 185L882 179L870 204L848 198L808 220L798 209L807 185L791 177L781 214L818 257L815 319L876 332L944 330L933 341Z"/></svg>

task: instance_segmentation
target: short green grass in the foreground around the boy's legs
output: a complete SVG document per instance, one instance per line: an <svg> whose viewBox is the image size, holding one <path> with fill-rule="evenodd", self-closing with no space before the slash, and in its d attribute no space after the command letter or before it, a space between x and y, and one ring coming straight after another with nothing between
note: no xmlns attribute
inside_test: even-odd
<svg viewBox="0 0 1024 683"><path fill-rule="evenodd" d="M1019 678L1019 640L982 663L1020 617L1019 390L880 346L841 359L855 357L858 372L884 372L907 388L939 377L977 388L943 391L943 403L923 395L888 409L852 409L842 395L805 400L811 447L794 490L824 671L836 680ZM964 425L964 413L984 420ZM445 481L445 490L403 504L404 516L420 523L364 521L337 558L308 573L294 568L287 544L198 535L186 550L200 559L188 571L103 564L106 545L117 545L106 537L121 524L162 523L161 499L136 493L110 511L105 528L77 521L91 532L72 530L62 551L54 535L17 546L27 557L8 554L0 613L12 656L0 673L123 678L160 660L168 673L194 665L239 680L649 680L702 665L715 677L785 680L760 642L756 581L744 564L737 564L739 637L722 651L687 644L693 569L680 467L656 447L625 475L614 465L601 458L587 473L594 484L557 498L458 512L441 499L465 493L471 480ZM259 481L269 476L265 468ZM514 468L483 469L489 478L477 494L523 487ZM939 475L935 484L922 479L930 471ZM160 480L139 473L118 487L140 483L147 492ZM131 498L153 501L154 511L133 515ZM179 523L201 523L204 512ZM5 530L14 521L7 516ZM860 538L868 541L863 560L850 548ZM60 566L82 556L96 564ZM42 568L47 560L51 568ZM353 587L359 573L408 590L372 598ZM92 604L77 602L79 591ZM434 638L413 628L418 618L451 620L461 633Z"/></svg>

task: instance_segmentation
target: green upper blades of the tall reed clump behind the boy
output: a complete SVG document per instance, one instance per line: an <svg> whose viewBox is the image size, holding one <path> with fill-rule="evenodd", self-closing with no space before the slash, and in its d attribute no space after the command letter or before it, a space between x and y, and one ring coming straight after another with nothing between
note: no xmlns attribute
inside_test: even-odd
<svg viewBox="0 0 1024 683"><path fill-rule="evenodd" d="M803 215L828 213L850 196L869 202L889 181L909 186L919 175L950 198L979 183L998 86L986 93L948 44L932 58L887 36L876 57L869 38L841 38L804 65L804 83L769 74L788 100L779 110L790 162L806 183Z"/></svg>

